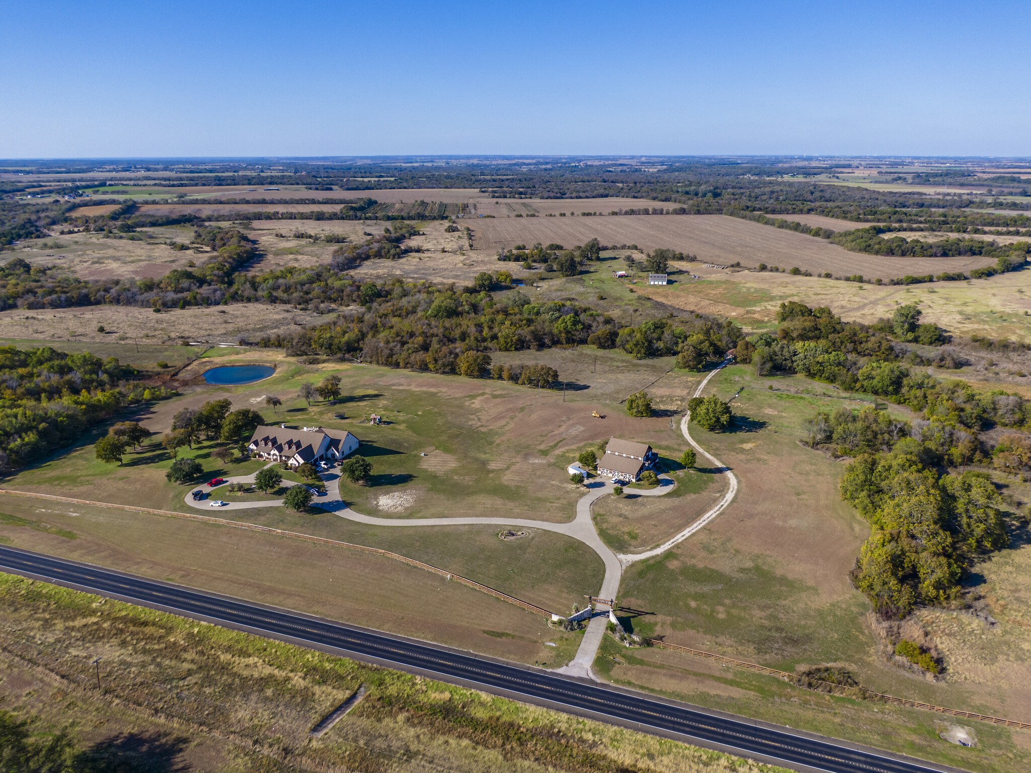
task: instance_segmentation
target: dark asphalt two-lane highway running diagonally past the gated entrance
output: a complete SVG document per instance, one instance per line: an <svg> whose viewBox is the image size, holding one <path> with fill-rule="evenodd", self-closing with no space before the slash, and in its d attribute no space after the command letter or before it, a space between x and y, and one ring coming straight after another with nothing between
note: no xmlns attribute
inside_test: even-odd
<svg viewBox="0 0 1031 773"><path fill-rule="evenodd" d="M840 745L832 739L798 735L788 729L778 730L747 719L710 714L702 709L651 700L641 695L618 692L553 673L484 660L331 620L3 545L0 545L0 568L13 574L53 580L62 585L222 623L271 638L335 649L358 660L431 674L441 681L476 686L486 692L644 732L679 736L687 742L701 743L709 748L721 748L796 770L833 773L927 773L944 770L917 760L880 754L873 749Z"/></svg>

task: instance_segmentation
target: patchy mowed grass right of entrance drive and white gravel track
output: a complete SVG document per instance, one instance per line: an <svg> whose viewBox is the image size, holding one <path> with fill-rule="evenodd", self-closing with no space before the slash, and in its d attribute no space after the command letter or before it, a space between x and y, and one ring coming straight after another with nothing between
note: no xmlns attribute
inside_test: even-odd
<svg viewBox="0 0 1031 773"><path fill-rule="evenodd" d="M833 664L869 690L1023 720L1031 708L1026 669L1017 665L1027 642L1023 612L1002 636L988 634L995 643L979 652L986 630L972 625L972 616L929 613L940 628L951 627L952 646L962 653L950 662L955 675L941 683L904 674L875 656L869 605L847 579L868 527L840 500L844 466L798 443L802 423L816 410L869 403L840 399L840 392L798 377L756 378L744 366L721 372L706 393L729 399L742 386L730 432L691 430L734 471L737 498L670 552L629 567L618 614L638 633L686 646L790 672ZM895 406L889 410L904 414ZM600 512L611 509L599 505ZM985 567L999 598L1013 605L1003 608L1020 608L1027 594L1020 574L1026 552L1021 543ZM670 651L606 647L596 667L619 683L970 770L1015 770L1031 762L1031 734L975 724L985 751L971 754L946 748L937 733L949 722L930 712L830 698Z"/></svg>

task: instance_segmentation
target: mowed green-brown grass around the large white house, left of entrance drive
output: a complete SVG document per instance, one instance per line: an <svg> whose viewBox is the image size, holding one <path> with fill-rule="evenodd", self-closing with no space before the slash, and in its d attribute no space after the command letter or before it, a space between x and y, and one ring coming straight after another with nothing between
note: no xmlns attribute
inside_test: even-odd
<svg viewBox="0 0 1031 773"><path fill-rule="evenodd" d="M588 349L561 354L568 361L579 357L579 368L585 375L588 362L590 369L599 371L602 399L586 397L594 386L590 382L581 383L588 386L586 390L568 392L569 401L563 403L561 392L488 380L370 366L302 366L281 361L276 375L259 384L192 389L184 397L159 403L137 416L119 416L120 419L136 417L156 433L154 442L142 450L126 455L125 466L105 465L94 458L92 442L103 432L99 428L84 437L77 447L6 479L3 486L196 512L182 501L192 486L165 480L171 460L156 441L160 433L168 430L177 410L229 397L236 408L261 410L269 423L287 422L292 427L321 425L354 432L363 441L362 455L373 463L373 477L368 485L342 482L341 494L359 512L396 518L399 526L367 527L332 513L313 510L311 514L298 514L278 507L236 510L229 514L211 510L212 514L389 549L471 577L544 608L568 613L584 594L597 593L602 578L600 559L583 543L535 529L527 537L501 540L497 536L498 527L407 526L408 518L419 516L507 515L570 520L583 490L569 482L565 467L579 449L587 445L597 447L612 434L647 441L655 434L670 432L668 418L631 418L618 405L625 394L644 385L643 378L667 377L665 363L645 363L643 373L630 368L621 372L619 365L633 362L624 355L599 352L599 367ZM230 355L220 358L217 364L234 361L255 362L260 358ZM561 363L555 364L565 368ZM198 363L191 369L202 367ZM300 383L318 382L329 373L341 375L347 399L333 406L317 401L309 408L296 397ZM690 377L680 377L688 379L687 388ZM278 412L265 407L266 395L284 400ZM591 411L595 408L606 418L592 418ZM366 417L373 412L385 417L385 425L367 424ZM338 413L345 418L335 418ZM205 469L202 480L215 475L248 474L263 466L257 461L223 464L211 458L213 447L214 444L202 441L194 449L179 451L180 456L202 463ZM380 498L399 493L412 498L411 504L400 512L380 504ZM232 495L225 498L234 499ZM483 595L468 589L457 590L454 583L438 582L434 575L375 557L280 538L269 541L265 535L162 516L15 497L2 497L0 512L13 516L0 526L0 535L29 549L117 566L146 576L170 577L177 582L374 628L404 631L435 641L474 646L479 651L525 662L554 664L556 659L568 660L575 650L574 636L556 638L548 629L537 625L537 618L524 617L527 613L514 607L510 608L516 613L512 619L523 623L512 621L499 628L496 613L483 607L484 600L489 605L498 603L490 597L475 598ZM69 534L75 538L69 538ZM270 566L277 571L269 572ZM345 567L347 573L337 578L327 574L329 566ZM380 577L388 575L391 582L408 583L409 590L380 581ZM329 585L330 576L340 584ZM345 598L338 597L336 587L346 589ZM374 593L365 594L362 590L365 587L374 589ZM440 587L445 587L447 594L462 596L461 602L446 602L462 607L457 617L440 612L435 606L430 609L417 603L420 589L431 589L429 598L435 600L438 597L432 594ZM463 596L468 593L473 596ZM490 616L491 625L469 629L468 620L481 620L481 615ZM530 626L532 635L521 633L520 626ZM498 638L484 634L484 630L501 630L511 636ZM558 646L545 646L545 641Z"/></svg>

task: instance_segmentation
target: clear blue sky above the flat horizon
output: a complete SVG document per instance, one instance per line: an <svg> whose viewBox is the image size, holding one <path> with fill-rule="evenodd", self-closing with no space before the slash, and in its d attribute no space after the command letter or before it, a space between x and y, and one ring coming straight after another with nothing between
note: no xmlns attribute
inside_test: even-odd
<svg viewBox="0 0 1031 773"><path fill-rule="evenodd" d="M0 1L0 157L1031 156L1031 2Z"/></svg>

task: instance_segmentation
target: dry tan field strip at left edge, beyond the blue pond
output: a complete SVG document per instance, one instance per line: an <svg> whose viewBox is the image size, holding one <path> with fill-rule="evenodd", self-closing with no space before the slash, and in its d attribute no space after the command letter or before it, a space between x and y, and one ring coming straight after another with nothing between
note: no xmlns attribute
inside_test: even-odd
<svg viewBox="0 0 1031 773"><path fill-rule="evenodd" d="M235 343L266 333L288 334L296 326L325 322L314 312L260 303L169 309L156 314L137 306L78 306L63 309L0 311L0 338L58 341L129 341L169 343L187 338ZM98 332L99 326L104 332ZM122 336L125 336L123 338Z"/></svg>

